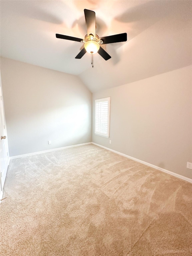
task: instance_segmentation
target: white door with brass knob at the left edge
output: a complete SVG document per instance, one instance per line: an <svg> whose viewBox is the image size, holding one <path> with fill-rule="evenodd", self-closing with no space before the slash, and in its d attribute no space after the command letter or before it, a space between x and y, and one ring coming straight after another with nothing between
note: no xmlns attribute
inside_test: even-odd
<svg viewBox="0 0 192 256"><path fill-rule="evenodd" d="M1 74L0 74L1 80ZM9 152L7 143L7 130L4 118L4 105L3 105L3 95L2 95L2 85L0 84L0 199L3 195L3 186L5 182L5 177L7 173L7 168L9 165Z"/></svg>

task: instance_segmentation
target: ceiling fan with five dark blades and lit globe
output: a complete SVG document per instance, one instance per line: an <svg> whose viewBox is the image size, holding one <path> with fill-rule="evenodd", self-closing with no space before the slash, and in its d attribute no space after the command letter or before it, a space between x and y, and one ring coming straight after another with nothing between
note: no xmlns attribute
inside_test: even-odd
<svg viewBox="0 0 192 256"><path fill-rule="evenodd" d="M77 54L75 59L81 59L86 52L91 54L91 64L93 64L93 54L95 53L99 53L105 60L110 59L111 56L101 47L101 44L125 42L127 41L127 33L99 38L99 36L95 34L95 12L84 9L84 13L87 26L87 35L85 35L85 39L60 34L56 34L56 38L84 43L84 48Z"/></svg>

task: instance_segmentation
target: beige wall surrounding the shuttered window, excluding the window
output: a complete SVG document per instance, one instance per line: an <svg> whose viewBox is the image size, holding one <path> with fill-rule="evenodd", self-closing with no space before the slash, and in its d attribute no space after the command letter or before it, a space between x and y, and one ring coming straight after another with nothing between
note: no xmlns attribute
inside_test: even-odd
<svg viewBox="0 0 192 256"><path fill-rule="evenodd" d="M92 141L192 178L191 66L93 93ZM111 97L110 137L94 134L95 99ZM112 144L109 144L112 140Z"/></svg>

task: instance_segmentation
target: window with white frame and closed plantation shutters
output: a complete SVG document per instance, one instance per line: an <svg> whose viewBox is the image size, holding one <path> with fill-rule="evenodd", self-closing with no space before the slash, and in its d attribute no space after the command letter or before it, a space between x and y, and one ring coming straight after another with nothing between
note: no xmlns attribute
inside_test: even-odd
<svg viewBox="0 0 192 256"><path fill-rule="evenodd" d="M95 134L109 138L110 97L95 100Z"/></svg>

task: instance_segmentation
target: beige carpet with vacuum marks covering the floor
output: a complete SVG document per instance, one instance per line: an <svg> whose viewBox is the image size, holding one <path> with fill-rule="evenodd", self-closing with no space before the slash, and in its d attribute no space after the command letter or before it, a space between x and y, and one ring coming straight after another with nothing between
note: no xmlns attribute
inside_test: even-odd
<svg viewBox="0 0 192 256"><path fill-rule="evenodd" d="M95 145L12 159L0 255L192 255L192 184Z"/></svg>

